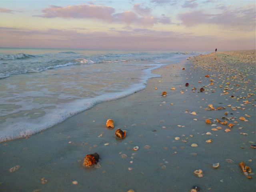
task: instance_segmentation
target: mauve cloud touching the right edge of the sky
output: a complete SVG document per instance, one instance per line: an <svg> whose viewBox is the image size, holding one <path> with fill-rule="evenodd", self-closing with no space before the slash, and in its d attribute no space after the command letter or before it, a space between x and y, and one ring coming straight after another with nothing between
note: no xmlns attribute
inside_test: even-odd
<svg viewBox="0 0 256 192"><path fill-rule="evenodd" d="M198 24L220 24L223 26L246 26L255 30L255 7L224 10L219 14L205 14L202 11L194 11L178 14L186 26Z"/></svg>

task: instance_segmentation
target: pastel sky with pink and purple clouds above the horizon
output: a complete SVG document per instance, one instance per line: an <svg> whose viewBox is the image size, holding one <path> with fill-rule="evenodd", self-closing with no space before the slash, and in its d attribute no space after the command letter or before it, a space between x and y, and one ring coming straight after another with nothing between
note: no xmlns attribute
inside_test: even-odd
<svg viewBox="0 0 256 192"><path fill-rule="evenodd" d="M252 50L256 2L0 1L0 47Z"/></svg>

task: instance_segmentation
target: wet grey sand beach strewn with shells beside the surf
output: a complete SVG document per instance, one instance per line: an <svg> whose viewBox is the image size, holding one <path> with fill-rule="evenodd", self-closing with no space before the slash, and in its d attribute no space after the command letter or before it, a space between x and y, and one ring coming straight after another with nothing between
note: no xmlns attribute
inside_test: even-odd
<svg viewBox="0 0 256 192"><path fill-rule="evenodd" d="M131 96L98 104L30 138L0 143L0 191L186 192L194 185L200 192L253 191L255 64L254 50L188 58L154 70L161 78L148 80ZM222 109L205 110L209 104ZM112 130L105 127L108 118L115 121ZM225 132L228 126L216 118L234 126ZM222 129L211 130L218 126ZM127 130L123 140L114 136L118 128ZM94 152L100 162L84 168L84 156ZM252 169L252 179L243 174L241 161ZM212 168L218 162L219 168ZM198 169L202 178L193 174Z"/></svg>

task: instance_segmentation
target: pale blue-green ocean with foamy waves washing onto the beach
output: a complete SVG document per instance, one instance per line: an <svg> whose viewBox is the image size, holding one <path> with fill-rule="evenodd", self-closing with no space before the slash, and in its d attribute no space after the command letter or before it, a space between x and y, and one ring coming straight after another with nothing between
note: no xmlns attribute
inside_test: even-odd
<svg viewBox="0 0 256 192"><path fill-rule="evenodd" d="M198 52L0 48L0 142L145 88L152 70Z"/></svg>

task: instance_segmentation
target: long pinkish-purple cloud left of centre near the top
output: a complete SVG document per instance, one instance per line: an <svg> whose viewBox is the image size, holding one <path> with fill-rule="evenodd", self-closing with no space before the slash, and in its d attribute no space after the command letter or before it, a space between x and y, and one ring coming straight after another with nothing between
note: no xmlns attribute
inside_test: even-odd
<svg viewBox="0 0 256 192"><path fill-rule="evenodd" d="M170 24L170 18L161 16L156 18L150 16L150 8L142 8L140 4L134 5L134 10L115 13L115 9L108 6L99 5L75 5L75 6L50 6L42 10L43 18L90 18L103 20L105 22L119 22L130 24L139 24L142 26L152 26L157 23ZM138 14L137 14L138 13Z"/></svg>

